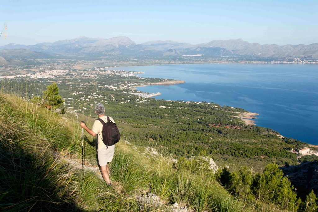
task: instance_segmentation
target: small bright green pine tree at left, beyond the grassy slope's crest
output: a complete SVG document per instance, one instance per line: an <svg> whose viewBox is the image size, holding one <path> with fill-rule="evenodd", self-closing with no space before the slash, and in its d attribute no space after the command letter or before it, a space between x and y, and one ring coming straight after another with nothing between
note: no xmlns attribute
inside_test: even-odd
<svg viewBox="0 0 318 212"><path fill-rule="evenodd" d="M63 104L63 99L59 95L59 87L55 83L46 87L43 99L44 105L49 109L56 109Z"/></svg>

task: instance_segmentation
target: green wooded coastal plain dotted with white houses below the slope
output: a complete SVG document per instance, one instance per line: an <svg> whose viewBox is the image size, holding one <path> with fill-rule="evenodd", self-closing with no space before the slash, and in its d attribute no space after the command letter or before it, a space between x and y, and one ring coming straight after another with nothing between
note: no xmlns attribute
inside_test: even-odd
<svg viewBox="0 0 318 212"><path fill-rule="evenodd" d="M296 154L289 149L306 145L281 139L272 129L246 125L239 116L247 111L241 108L135 95L140 92L133 90L134 86L164 79L74 69L54 80L64 99L60 108L94 118L94 105L100 102L105 105L106 114L118 123L123 138L138 146L156 148L165 156L189 159L205 151L218 165L228 165L230 170L246 165L260 171L273 162L297 164ZM52 84L50 79L21 82L23 79L15 79L5 86L15 92L25 92L27 87L26 96L33 98L42 96Z"/></svg>

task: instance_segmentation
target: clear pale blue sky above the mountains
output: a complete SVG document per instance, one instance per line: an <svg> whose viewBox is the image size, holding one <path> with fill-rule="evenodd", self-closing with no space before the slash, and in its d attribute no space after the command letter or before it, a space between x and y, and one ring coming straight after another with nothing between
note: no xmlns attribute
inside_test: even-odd
<svg viewBox="0 0 318 212"><path fill-rule="evenodd" d="M136 43L242 38L260 44L311 44L318 42L318 0L2 0L3 23L8 25L8 38L1 37L0 45L79 36L127 36Z"/></svg>

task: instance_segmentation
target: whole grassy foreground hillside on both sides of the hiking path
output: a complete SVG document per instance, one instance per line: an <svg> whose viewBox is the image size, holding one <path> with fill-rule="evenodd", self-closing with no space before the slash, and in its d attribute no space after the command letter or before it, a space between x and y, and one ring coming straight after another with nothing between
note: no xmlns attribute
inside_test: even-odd
<svg viewBox="0 0 318 212"><path fill-rule="evenodd" d="M96 167L95 140L86 133L85 144L85 166ZM66 160L81 164L79 116L58 115L0 93L0 210L167 211L177 202L188 211L279 211L272 204L234 198L209 170L190 171L136 149L142 148L125 141L116 145L111 188L99 173ZM161 206L137 201L148 192Z"/></svg>

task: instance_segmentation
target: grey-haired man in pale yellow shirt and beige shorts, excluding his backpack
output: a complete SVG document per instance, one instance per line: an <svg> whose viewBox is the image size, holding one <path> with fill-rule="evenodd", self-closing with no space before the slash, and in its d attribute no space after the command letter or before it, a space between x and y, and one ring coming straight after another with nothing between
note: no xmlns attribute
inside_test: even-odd
<svg viewBox="0 0 318 212"><path fill-rule="evenodd" d="M104 122L107 122L107 116L105 116L105 107L104 105L98 103L95 105L95 113L98 115L98 118L103 120ZM108 116L109 117L109 116ZM112 117L109 117L109 120L114 122L114 119ZM81 122L80 127L84 128L87 133L96 136L97 135L97 156L98 156L98 162L100 165L100 169L103 175L104 180L109 184L112 185L109 178L109 167L107 166L108 162L111 162L114 157L114 151L115 151L115 145L107 146L104 144L102 140L102 129L103 124L100 122L100 120L96 119L93 125L93 128L90 129L86 126L84 122Z"/></svg>

